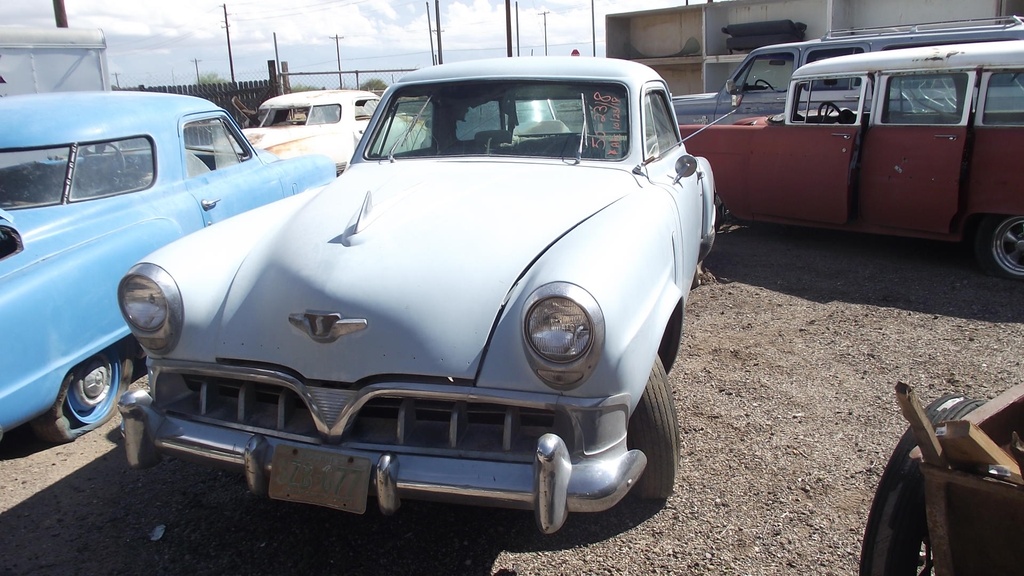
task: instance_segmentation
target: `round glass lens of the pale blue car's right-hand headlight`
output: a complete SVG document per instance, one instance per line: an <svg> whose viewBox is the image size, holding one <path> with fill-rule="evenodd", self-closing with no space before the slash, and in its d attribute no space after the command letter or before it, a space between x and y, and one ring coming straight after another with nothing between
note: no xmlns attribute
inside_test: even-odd
<svg viewBox="0 0 1024 576"><path fill-rule="evenodd" d="M541 300L526 318L529 344L545 359L571 362L590 349L593 324L574 301L561 296Z"/></svg>

